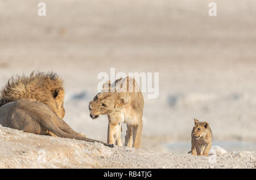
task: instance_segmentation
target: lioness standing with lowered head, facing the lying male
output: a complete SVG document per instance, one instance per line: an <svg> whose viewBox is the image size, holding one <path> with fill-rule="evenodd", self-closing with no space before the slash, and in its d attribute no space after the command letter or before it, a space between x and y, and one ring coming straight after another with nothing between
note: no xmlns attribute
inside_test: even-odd
<svg viewBox="0 0 256 180"><path fill-rule="evenodd" d="M110 81L104 84L102 92L98 93L89 102L91 118L97 118L101 114L108 114L108 143L122 146L121 123L127 124L125 145L139 148L142 136L142 115L144 99L135 79L125 78Z"/></svg>

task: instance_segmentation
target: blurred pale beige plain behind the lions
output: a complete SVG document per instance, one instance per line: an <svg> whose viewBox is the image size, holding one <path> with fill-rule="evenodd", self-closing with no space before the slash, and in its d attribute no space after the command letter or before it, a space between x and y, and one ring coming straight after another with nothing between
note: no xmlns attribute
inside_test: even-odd
<svg viewBox="0 0 256 180"><path fill-rule="evenodd" d="M144 93L142 148L186 153L193 118L213 145L256 151L256 1L0 1L0 88L11 75L54 71L65 84L64 120L106 141L106 115L88 102L100 72L159 72L159 97ZM125 124L123 133L125 135Z"/></svg>

